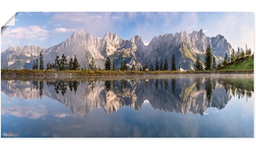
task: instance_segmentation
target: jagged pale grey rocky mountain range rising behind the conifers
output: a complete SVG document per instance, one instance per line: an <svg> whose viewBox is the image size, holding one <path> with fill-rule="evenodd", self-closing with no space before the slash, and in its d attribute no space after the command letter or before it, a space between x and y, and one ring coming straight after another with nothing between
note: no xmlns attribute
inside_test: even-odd
<svg viewBox="0 0 256 151"><path fill-rule="evenodd" d="M83 30L74 33L64 42L49 48L26 45L24 47L9 47L1 53L1 68L31 69L33 60L37 59L40 52L43 52L44 67L47 63L53 63L56 56L64 54L67 60L77 57L81 68L88 68L92 58L96 66L103 69L107 57L115 61L115 68L119 68L122 58L128 67L135 65L137 69L148 66L155 66L155 61L168 60L168 67L171 68L171 58L175 54L176 68L180 70L194 70L196 57L200 56L204 61L207 46L210 45L212 54L219 63L225 57L230 56L232 46L224 36L206 36L203 30L187 33L181 31L175 34L155 36L148 45L144 44L139 35L133 36L130 40L119 38L117 34L107 32L103 38L95 38L91 33Z"/></svg>

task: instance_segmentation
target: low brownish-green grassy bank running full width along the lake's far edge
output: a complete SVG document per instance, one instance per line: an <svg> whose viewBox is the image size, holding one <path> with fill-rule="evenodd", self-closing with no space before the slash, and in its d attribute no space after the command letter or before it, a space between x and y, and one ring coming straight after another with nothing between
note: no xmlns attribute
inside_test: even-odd
<svg viewBox="0 0 256 151"><path fill-rule="evenodd" d="M64 70L64 71L44 71L44 70L1 70L1 80L67 80L67 79L88 79L88 78L111 78L120 77L131 79L133 77L181 77L181 76L246 76L252 75L253 70L218 70L218 71L106 71L106 70ZM167 76L169 75L169 76Z"/></svg>

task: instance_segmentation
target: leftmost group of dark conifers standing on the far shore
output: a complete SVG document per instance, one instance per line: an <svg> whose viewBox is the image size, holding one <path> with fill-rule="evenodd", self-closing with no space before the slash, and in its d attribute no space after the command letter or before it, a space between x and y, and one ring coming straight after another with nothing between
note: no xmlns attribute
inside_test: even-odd
<svg viewBox="0 0 256 151"><path fill-rule="evenodd" d="M36 59L33 61L32 70L44 70L44 57L42 52L39 54L39 60ZM71 58L67 61L65 54L62 54L61 58L57 55L53 63L48 62L46 70L80 70L80 64L78 63L76 55L74 59Z"/></svg>

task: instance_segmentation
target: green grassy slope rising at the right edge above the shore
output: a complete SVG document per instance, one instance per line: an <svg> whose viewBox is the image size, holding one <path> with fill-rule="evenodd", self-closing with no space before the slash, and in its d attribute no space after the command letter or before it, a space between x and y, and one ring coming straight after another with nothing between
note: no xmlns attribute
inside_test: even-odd
<svg viewBox="0 0 256 151"><path fill-rule="evenodd" d="M221 70L253 70L253 57L237 60L235 63L221 68Z"/></svg>

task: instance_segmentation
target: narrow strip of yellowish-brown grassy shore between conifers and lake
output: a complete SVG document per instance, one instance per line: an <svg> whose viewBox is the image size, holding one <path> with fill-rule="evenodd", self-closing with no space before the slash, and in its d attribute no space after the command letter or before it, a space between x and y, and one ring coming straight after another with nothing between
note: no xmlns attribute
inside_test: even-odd
<svg viewBox="0 0 256 151"><path fill-rule="evenodd" d="M1 79L83 79L87 77L147 76L178 74L253 74L253 70L212 70L212 71L112 71L112 70L1 70Z"/></svg>

